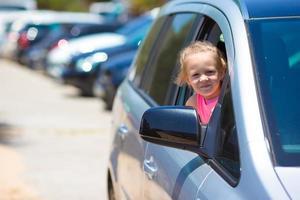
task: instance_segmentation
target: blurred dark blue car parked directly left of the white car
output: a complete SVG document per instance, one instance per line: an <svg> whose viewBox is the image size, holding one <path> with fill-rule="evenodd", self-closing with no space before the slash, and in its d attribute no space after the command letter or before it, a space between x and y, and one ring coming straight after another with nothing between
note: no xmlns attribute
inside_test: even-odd
<svg viewBox="0 0 300 200"><path fill-rule="evenodd" d="M40 27L41 24L38 25ZM120 23L51 23L45 24L49 27L49 31L43 34L43 37L39 41L35 41L31 45L19 44L19 61L33 69L45 69L46 58L48 52L59 45L59 43L67 42L70 39L91 35L95 33L113 32L117 28L121 27ZM24 41L28 41L28 31L24 32ZM27 42L28 43L28 42ZM27 44L25 43L25 44Z"/></svg>

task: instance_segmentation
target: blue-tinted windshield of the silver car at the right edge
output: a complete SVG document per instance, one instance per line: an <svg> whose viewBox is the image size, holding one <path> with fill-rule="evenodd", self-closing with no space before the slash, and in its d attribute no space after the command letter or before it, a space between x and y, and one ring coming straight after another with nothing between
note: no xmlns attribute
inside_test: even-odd
<svg viewBox="0 0 300 200"><path fill-rule="evenodd" d="M276 164L300 166L300 19L251 20L248 25Z"/></svg>

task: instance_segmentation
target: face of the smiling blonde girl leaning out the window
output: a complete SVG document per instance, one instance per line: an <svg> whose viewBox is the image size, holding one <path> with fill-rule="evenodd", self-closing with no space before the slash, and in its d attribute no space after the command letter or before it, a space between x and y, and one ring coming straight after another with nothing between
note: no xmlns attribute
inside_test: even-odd
<svg viewBox="0 0 300 200"><path fill-rule="evenodd" d="M214 52L195 53L185 58L188 84L205 99L219 95L220 81L224 77L215 58Z"/></svg>

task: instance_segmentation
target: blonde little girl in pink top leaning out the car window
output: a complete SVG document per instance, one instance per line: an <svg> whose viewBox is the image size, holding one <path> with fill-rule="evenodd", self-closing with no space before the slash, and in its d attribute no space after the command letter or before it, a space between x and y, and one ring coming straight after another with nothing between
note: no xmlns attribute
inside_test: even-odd
<svg viewBox="0 0 300 200"><path fill-rule="evenodd" d="M180 86L186 83L194 90L185 105L194 107L201 122L207 124L218 102L226 71L225 59L213 44L197 41L181 51L180 65L176 83Z"/></svg>

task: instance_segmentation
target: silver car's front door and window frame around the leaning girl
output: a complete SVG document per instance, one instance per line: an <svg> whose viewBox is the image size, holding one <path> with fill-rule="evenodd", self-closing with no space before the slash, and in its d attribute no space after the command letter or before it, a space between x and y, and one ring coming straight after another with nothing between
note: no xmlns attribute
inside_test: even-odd
<svg viewBox="0 0 300 200"><path fill-rule="evenodd" d="M197 7L199 9L196 9ZM200 13L203 14L203 18L198 19L201 26L191 28L194 34L190 34L197 35L197 38L194 39L212 42L225 55L225 51L228 50L227 56L231 63L231 59L233 59L232 40L226 18L221 12L215 8L209 8L207 5L205 5L205 9L199 4L187 5L185 10L187 8L192 8L194 12L196 12L195 10L205 11ZM179 11L178 13L181 14ZM219 22L222 23L219 24L214 19L220 20ZM154 80L153 84L160 84L159 80ZM225 135L227 135L226 131L230 132L228 135L231 137L226 138L218 159L214 161L214 164L218 164L211 164L211 161L192 152L148 143L144 159L144 199L224 199L224 197L227 199L235 190L240 176L240 168L230 84L224 84L223 90L226 90L226 98L221 98L220 104L224 104L224 107L222 107L221 114L213 114L212 119L215 118L215 120L211 120L213 122L209 125L210 128L207 132L207 134L222 132ZM179 88L171 90L171 93L169 97L173 96L173 99L176 99L170 102L171 104L184 105L191 92L189 88ZM227 112L227 110L231 112ZM221 191L215 192L217 188L220 188Z"/></svg>

